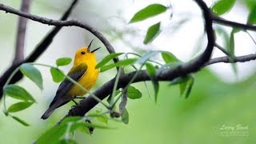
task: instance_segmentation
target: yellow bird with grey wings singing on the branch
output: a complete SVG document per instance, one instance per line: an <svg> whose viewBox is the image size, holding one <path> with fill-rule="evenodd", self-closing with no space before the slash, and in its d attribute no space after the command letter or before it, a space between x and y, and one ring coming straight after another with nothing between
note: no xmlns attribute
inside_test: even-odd
<svg viewBox="0 0 256 144"><path fill-rule="evenodd" d="M95 50L90 50L90 46L93 40L90 42L89 46L79 48L74 56L74 66L68 72L68 76L74 81L78 82L81 86L90 90L98 79L98 69L95 69L97 65L96 50L100 49L98 47ZM77 96L83 96L86 94L85 90L82 90L79 86L74 85L69 79L65 78L61 84L58 86L58 90L55 94L53 101L50 103L49 108L44 114L42 114L42 119L50 117L50 114L54 112L60 106L65 105Z"/></svg>

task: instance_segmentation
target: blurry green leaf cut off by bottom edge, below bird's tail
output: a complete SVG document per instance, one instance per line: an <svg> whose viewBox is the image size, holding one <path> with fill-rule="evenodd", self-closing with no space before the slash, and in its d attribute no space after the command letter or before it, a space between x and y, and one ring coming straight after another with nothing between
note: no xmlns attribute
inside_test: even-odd
<svg viewBox="0 0 256 144"><path fill-rule="evenodd" d="M66 133L67 125L58 125L50 128L44 134L38 138L37 144L55 144L62 138L62 136Z"/></svg>

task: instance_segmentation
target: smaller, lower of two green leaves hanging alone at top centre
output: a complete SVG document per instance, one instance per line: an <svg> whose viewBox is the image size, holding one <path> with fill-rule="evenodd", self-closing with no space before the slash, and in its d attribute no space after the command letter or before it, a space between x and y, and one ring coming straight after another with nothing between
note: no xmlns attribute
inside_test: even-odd
<svg viewBox="0 0 256 144"><path fill-rule="evenodd" d="M145 45L152 42L154 38L157 38L158 34L160 34L161 32L160 25L161 25L161 22L158 22L153 26L150 26L150 28L146 31L146 37L144 38L144 41L143 41Z"/></svg>

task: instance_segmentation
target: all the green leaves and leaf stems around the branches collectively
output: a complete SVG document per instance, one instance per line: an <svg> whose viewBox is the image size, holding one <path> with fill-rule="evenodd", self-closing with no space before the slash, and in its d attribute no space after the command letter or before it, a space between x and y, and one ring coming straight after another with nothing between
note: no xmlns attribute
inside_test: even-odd
<svg viewBox="0 0 256 144"><path fill-rule="evenodd" d="M218 0L214 2L214 5L211 6L211 10L217 16L228 13L234 5L236 4L235 0ZM256 14L256 4L251 6L250 13L247 17L248 24L254 24L256 19L254 15ZM152 4L146 6L142 10L139 10L134 16L130 19L130 23L134 22L142 22L146 19L157 16L158 14L163 14L170 7L163 6L161 4ZM231 62L234 62L235 59L235 34L241 32L242 30L233 27L230 32L224 30L218 26L214 29L216 31L217 38L222 37L223 41L223 52L230 58ZM146 34L143 43L145 45L153 42L155 38L158 37L158 34L161 32L161 22L157 22L152 24ZM132 55L133 57L130 57ZM135 58L134 58L135 56ZM161 56L163 62L155 61L155 58ZM119 58L118 62L110 62L114 58ZM25 63L18 67L18 70L22 72L27 78L29 78L40 90L43 90L42 86L42 74L36 68L36 66L46 66L50 68L50 74L52 76L53 82L62 82L64 78L68 78L66 74L63 74L62 70L60 70L60 66L69 65L72 61L71 58L58 58L55 62L56 66L48 66L38 63ZM158 78L156 78L157 74L161 74L162 70L172 70L180 66L183 62L179 60L174 54L169 51L149 51L146 54L131 54L131 53L114 53L108 54L105 58L102 58L101 62L98 62L98 65L95 66L96 69L99 69L100 72L106 72L113 68L119 67L118 74L114 79L114 87L113 93L110 94L107 99L108 104L104 104L104 109L94 110L92 114L87 114L84 117L68 117L65 118L62 122L60 122L57 126L53 126L49 130L47 130L44 134L42 134L37 143L77 143L72 138L72 135L75 131L82 131L84 134L92 134L94 129L109 129L108 125L109 120L117 120L121 121L125 124L129 123L129 113L126 109L126 104L121 105L121 98L129 98L129 101L134 101L142 98L143 93L135 86L132 86L134 79L138 76L139 73L145 72L148 74L148 78L154 88L154 101L158 102L158 93L160 89L160 84L158 82ZM119 78L122 78L122 73L126 73L133 67L135 69L134 76L128 82L128 85L122 89L118 89ZM237 73L237 69L235 64L232 64L234 72ZM14 73L17 73L18 70L14 70ZM123 71L122 71L123 70ZM12 74L14 75L14 74ZM182 75L182 74L181 74ZM10 77L11 79L12 77ZM22 86L18 86L16 84L8 84L10 79L6 82L4 86L4 97L10 97L18 100L14 104L10 105L6 108L6 100L4 100L4 114L6 116L10 116L14 118L17 122L20 122L24 126L30 126L29 123L25 122L21 118L12 115L13 113L20 112L22 110L26 110L30 106L32 106L36 100ZM169 82L169 86L178 85L178 89L181 96L185 98L189 98L191 94L191 90L194 86L195 77L194 74L183 74L182 76L175 78L173 81ZM197 81L198 82L198 81ZM78 83L74 83L78 85ZM118 90L117 90L118 89ZM98 99L96 99L98 100ZM127 100L127 99L126 99ZM121 101L121 102L120 102ZM116 110L116 105L119 102L119 108ZM103 102L102 102L103 103ZM125 102L126 103L126 102ZM107 115L110 114L110 115ZM92 121L92 122L91 122ZM100 123L100 124L97 124Z"/></svg>

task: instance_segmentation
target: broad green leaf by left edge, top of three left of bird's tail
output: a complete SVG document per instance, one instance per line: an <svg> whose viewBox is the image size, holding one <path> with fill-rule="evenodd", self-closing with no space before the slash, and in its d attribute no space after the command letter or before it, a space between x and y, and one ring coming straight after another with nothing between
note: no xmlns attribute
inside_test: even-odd
<svg viewBox="0 0 256 144"><path fill-rule="evenodd" d="M4 93L12 98L21 99L23 101L35 102L34 98L24 88L17 85L8 85L4 87Z"/></svg>

